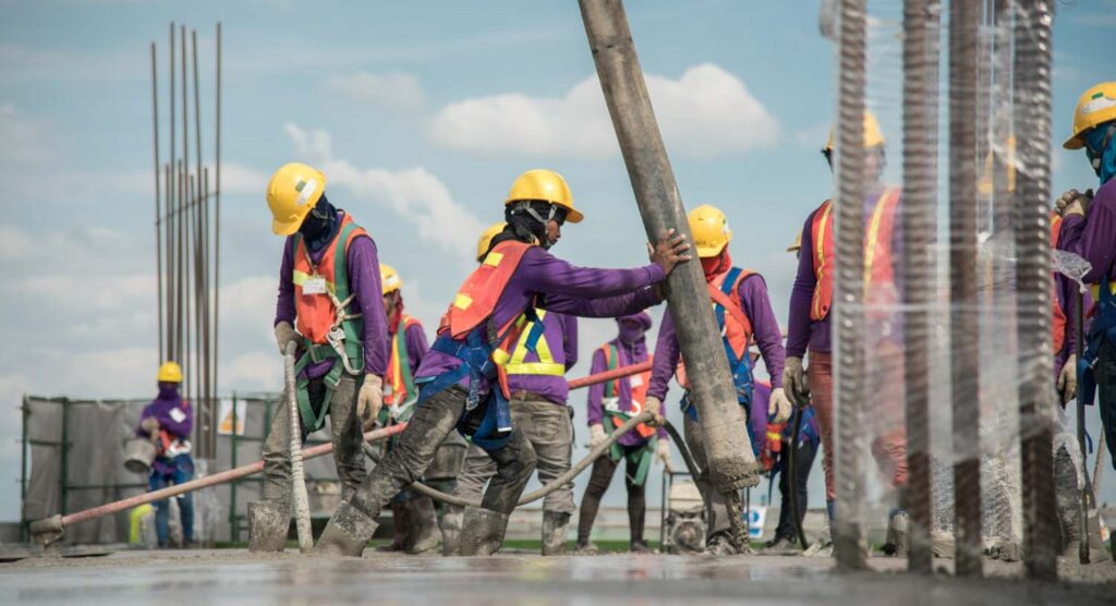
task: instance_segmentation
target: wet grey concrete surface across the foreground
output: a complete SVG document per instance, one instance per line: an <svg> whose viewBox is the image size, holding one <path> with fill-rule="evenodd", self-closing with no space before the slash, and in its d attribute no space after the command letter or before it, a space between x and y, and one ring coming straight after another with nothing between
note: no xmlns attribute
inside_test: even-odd
<svg viewBox="0 0 1116 606"><path fill-rule="evenodd" d="M943 564L946 566L947 564ZM985 580L905 574L874 558L870 573L837 574L829 558L615 555L364 558L241 550L122 551L0 565L2 604L1116 604L1116 566L1093 581L1037 584L1019 565L988 562ZM1074 574L1066 570L1066 574Z"/></svg>

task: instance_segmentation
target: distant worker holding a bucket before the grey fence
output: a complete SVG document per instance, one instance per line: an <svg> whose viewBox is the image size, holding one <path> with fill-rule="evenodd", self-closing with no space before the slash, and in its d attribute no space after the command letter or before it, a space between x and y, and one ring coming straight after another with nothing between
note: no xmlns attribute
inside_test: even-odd
<svg viewBox="0 0 1116 606"><path fill-rule="evenodd" d="M194 478L194 460L190 456L190 432L194 427L194 411L182 400L182 368L174 362L160 366L158 396L143 408L136 435L155 443L155 460L151 464L147 484L158 490L171 484L182 484ZM186 492L175 497L182 516L182 546L194 542L194 498ZM155 535L158 546L170 541L170 501L155 502Z"/></svg>

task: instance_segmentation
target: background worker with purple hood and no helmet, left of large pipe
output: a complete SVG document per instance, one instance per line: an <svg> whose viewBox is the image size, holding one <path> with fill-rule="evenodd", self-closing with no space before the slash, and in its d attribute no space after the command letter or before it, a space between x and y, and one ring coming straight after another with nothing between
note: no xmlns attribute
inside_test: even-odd
<svg viewBox="0 0 1116 606"><path fill-rule="evenodd" d="M651 329L651 316L645 311L616 318L619 334L615 339L602 345L593 354L593 367L589 374L614 371L624 366L643 364L651 359L647 342L644 335ZM651 382L651 371L629 377L617 378L608 383L598 383L589 387L586 404L587 422L589 424L589 448L596 448L612 435L627 420L643 412L647 402L647 386ZM628 549L636 554L650 552L651 548L643 539L644 518L647 503L644 499L644 487L647 471L654 458L663 461L670 469L671 450L666 441L666 431L662 427L651 427L641 423L634 431L622 435L614 443L607 456L600 456L593 463L589 485L581 498L580 514L577 523L577 550L596 552L597 547L589 542L593 532L593 521L597 517L600 499L612 483L613 474L625 461L624 484L627 487L628 510Z"/></svg>

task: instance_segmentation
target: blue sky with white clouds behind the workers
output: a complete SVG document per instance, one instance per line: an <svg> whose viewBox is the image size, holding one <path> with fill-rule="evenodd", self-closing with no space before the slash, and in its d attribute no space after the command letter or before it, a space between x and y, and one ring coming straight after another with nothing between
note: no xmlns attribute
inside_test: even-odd
<svg viewBox="0 0 1116 606"><path fill-rule="evenodd" d="M831 189L818 148L833 114L835 64L817 32L817 1L628 4L683 199L728 212L735 261L766 275L785 321L793 259L783 249ZM869 4L884 20L874 49L881 77L869 96L897 143L888 116L898 116L898 47L887 20L899 3ZM565 174L587 215L556 253L604 267L646 262L574 2L90 0L3 1L0 9L0 330L8 344L0 352L0 485L18 481L20 394L151 393L148 44L158 44L165 86L171 20L200 29L210 127L213 22L224 27L222 391L279 385L270 326L281 241L269 231L262 190L283 162L324 167L330 200L373 233L429 327L469 268L478 229L500 218L508 186L527 169ZM1112 0L1059 6L1056 140L1077 95L1114 77L1103 59L1113 15ZM165 90L160 104L165 124ZM209 154L212 132L203 135ZM897 170L897 145L889 155ZM1056 192L1094 183L1079 155L1059 148L1055 166ZM613 333L610 323L583 323L585 362L574 375ZM584 432L581 397L574 402ZM0 491L0 519L16 517L18 492Z"/></svg>

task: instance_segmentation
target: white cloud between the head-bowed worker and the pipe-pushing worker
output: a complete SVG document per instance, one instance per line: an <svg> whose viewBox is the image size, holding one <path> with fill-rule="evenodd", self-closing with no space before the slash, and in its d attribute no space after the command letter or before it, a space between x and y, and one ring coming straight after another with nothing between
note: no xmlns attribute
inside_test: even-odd
<svg viewBox="0 0 1116 606"><path fill-rule="evenodd" d="M477 234L485 224L453 200L437 176L423 167L389 171L359 169L333 157L325 131L304 131L286 125L299 155L312 160L327 175L329 186L340 185L364 200L384 206L412 223L423 241L437 246L456 259L471 259Z"/></svg>

